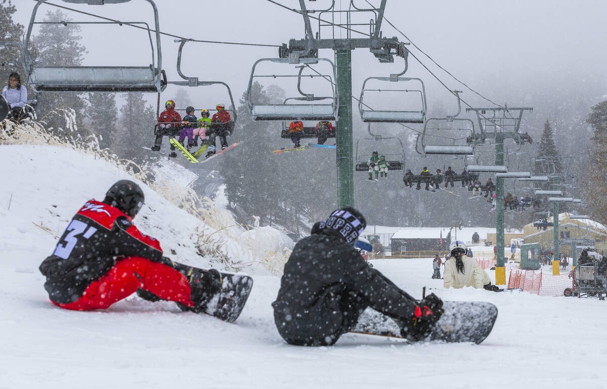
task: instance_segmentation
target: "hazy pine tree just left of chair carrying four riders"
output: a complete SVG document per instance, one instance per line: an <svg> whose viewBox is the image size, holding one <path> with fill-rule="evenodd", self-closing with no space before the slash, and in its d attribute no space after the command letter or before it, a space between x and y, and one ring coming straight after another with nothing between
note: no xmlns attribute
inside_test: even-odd
<svg viewBox="0 0 607 389"><path fill-rule="evenodd" d="M140 155L140 145L150 144L154 138L156 112L152 105L146 105L141 92L123 95L124 105L120 108L120 119L115 131L112 151L123 158Z"/></svg>

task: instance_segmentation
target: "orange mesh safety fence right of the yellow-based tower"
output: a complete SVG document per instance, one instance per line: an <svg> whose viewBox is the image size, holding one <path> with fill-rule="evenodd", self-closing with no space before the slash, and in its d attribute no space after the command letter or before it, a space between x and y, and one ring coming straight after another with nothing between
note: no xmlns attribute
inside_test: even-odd
<svg viewBox="0 0 607 389"><path fill-rule="evenodd" d="M573 287L569 274L555 276L541 270L510 270L508 289L520 288L540 296L563 296L566 288Z"/></svg>

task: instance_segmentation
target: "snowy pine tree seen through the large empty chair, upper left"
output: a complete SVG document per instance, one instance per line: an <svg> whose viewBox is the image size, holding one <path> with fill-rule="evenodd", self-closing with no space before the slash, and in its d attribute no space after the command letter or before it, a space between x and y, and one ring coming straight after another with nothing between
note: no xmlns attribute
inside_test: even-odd
<svg viewBox="0 0 607 389"><path fill-rule="evenodd" d="M47 12L44 21L59 22L71 19L61 10L56 10ZM39 34L34 38L38 48L37 62L53 66L81 65L86 48L80 44L80 30L78 24L42 24ZM80 126L83 122L84 107L86 103L79 93L44 92L39 95L38 118L46 121L49 127L62 127L63 116L46 114L56 108L72 108L76 111L76 124Z"/></svg>

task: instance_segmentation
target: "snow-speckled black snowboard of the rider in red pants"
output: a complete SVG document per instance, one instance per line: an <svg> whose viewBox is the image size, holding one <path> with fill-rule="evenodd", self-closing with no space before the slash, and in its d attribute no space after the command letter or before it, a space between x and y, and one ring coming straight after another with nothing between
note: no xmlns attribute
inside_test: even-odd
<svg viewBox="0 0 607 389"><path fill-rule="evenodd" d="M203 274L206 273L204 269L176 262L171 262L169 265L185 275L190 282L192 279L203 278ZM212 296L202 311L217 319L232 323L238 319L243 308L245 308L246 299L249 298L249 293L253 288L253 278L242 274L223 272L220 272L220 274L222 275L222 287L218 293ZM180 308L189 310L185 305L180 305Z"/></svg>

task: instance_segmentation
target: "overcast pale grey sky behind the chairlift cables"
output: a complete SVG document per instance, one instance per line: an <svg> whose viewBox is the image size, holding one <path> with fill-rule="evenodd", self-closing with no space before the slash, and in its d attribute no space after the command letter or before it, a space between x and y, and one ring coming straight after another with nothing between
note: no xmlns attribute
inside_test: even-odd
<svg viewBox="0 0 607 389"><path fill-rule="evenodd" d="M355 1L358 7L365 6L365 0ZM35 2L13 2L18 6L16 20L27 26ZM151 7L144 0L103 7L52 2L124 21L151 20ZM297 0L280 2L290 7L298 5ZM372 2L379 4L378 0ZM279 45L290 38L304 36L299 15L265 0L158 0L156 3L161 30L188 38ZM328 3L307 1L317 8ZM340 3L345 8L348 1L336 0L338 6ZM41 7L39 18L52 8ZM385 12L385 18L470 87L499 104L534 107L533 122L543 122L563 107L587 106L586 100L595 103L605 99L606 16L607 1L598 0L388 0ZM78 15L70 17L90 20ZM385 22L382 31L384 36L398 36L407 41ZM83 44L89 50L88 64L147 65L150 62L144 36L131 27L104 30L83 27L82 35ZM177 80L178 44L173 39L166 36L162 39L163 68L170 79ZM253 62L277 56L277 48L272 47L200 43L188 46L183 58L184 73L227 82L234 99L245 90ZM413 47L411 50L430 65L429 59L418 50ZM330 50L321 51L320 56L333 59ZM464 88L434 65L430 68L450 88ZM353 94L358 95L362 81L368 76L387 76L400 70L399 59L395 64L380 64L368 50L355 50ZM455 99L413 58L407 75L426 82L430 114L437 104L449 110L456 108ZM174 92L168 89L161 99L171 98L171 93ZM463 98L476 106L489 104L465 88ZM155 102L155 97L151 95L150 101ZM583 112L583 116L587 113Z"/></svg>

